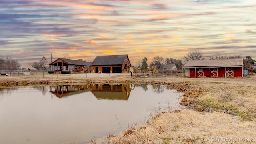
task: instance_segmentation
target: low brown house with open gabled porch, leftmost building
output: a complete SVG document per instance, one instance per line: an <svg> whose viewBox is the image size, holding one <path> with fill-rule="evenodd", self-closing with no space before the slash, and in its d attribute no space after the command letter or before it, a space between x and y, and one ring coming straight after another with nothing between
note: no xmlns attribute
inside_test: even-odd
<svg viewBox="0 0 256 144"><path fill-rule="evenodd" d="M62 73L74 72L90 72L90 65L92 62L85 62L82 60L70 60L66 58L58 58L54 62L50 63L50 70L48 73L54 73L60 71Z"/></svg>

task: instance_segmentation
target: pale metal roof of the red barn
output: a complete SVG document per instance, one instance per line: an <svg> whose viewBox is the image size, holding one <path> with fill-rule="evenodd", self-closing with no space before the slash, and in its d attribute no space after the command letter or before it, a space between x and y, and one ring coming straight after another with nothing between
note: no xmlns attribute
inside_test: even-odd
<svg viewBox="0 0 256 144"><path fill-rule="evenodd" d="M226 60L192 60L187 62L183 67L210 67L210 66L243 66L242 58Z"/></svg>

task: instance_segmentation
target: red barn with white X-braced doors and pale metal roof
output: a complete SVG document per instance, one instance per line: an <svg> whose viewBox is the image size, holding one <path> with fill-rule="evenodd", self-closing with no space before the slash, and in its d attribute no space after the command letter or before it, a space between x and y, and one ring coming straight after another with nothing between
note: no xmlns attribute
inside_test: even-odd
<svg viewBox="0 0 256 144"><path fill-rule="evenodd" d="M192 60L183 66L187 77L243 77L244 61L239 59L226 60Z"/></svg>

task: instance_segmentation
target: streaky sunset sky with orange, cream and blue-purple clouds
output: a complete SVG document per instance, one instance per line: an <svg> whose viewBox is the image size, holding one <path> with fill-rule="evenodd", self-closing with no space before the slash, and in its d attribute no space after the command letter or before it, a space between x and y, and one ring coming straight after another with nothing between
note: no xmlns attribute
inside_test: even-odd
<svg viewBox="0 0 256 144"><path fill-rule="evenodd" d="M256 60L256 0L0 0L0 56L21 68L51 54L136 65L192 51Z"/></svg>

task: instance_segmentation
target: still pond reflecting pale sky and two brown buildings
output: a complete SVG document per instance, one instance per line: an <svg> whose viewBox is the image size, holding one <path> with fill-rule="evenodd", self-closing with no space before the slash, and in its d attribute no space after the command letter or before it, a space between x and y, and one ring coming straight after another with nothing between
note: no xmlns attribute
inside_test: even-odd
<svg viewBox="0 0 256 144"><path fill-rule="evenodd" d="M179 109L163 85L88 84L0 89L1 144L88 144Z"/></svg>

